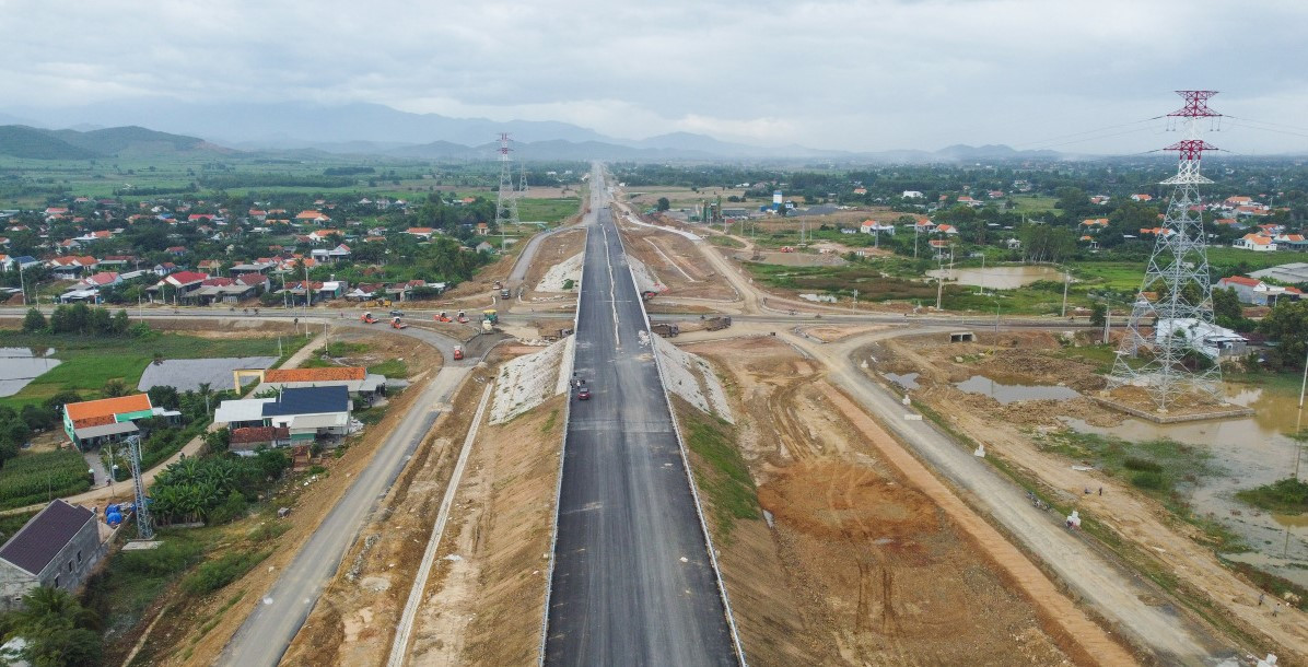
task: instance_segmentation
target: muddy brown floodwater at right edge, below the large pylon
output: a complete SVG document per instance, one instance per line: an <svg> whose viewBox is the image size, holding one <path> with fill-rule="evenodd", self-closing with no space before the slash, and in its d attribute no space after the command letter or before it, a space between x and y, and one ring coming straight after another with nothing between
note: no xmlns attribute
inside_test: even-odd
<svg viewBox="0 0 1308 667"><path fill-rule="evenodd" d="M1227 400L1248 405L1253 416L1235 420L1154 424L1129 417L1117 426L1099 428L1082 420L1065 420L1083 433L1116 436L1131 442L1171 438L1197 445L1213 455L1218 473L1201 477L1189 501L1198 514L1211 514L1239 534L1256 553L1232 556L1279 577L1308 586L1308 515L1271 514L1235 498L1241 489L1270 484L1295 473L1296 442L1288 437L1308 426L1300 415L1298 392L1226 385ZM1308 412L1308 411L1305 411ZM1308 453L1301 453L1300 477L1308 475Z"/></svg>

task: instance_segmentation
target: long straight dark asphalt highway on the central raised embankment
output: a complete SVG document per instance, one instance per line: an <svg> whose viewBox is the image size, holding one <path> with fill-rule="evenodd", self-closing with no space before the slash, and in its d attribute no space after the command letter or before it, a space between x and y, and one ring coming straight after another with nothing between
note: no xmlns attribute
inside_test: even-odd
<svg viewBox="0 0 1308 667"><path fill-rule="evenodd" d="M593 396L572 399L544 662L738 664L640 297L594 208L574 366Z"/></svg>

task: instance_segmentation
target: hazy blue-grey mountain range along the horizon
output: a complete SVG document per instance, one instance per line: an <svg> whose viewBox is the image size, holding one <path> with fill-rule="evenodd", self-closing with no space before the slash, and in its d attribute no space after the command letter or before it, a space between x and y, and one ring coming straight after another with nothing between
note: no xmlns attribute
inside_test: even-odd
<svg viewBox="0 0 1308 667"><path fill-rule="evenodd" d="M41 122L30 120L41 118ZM829 160L833 162L957 162L1061 160L1052 150L955 145L943 150L854 153L799 145L757 146L674 132L642 140L604 136L559 122L449 118L382 105L195 105L175 101L102 103L60 110L0 111L0 154L76 160L186 150L293 152L302 149L417 160L493 160L509 132L517 160ZM41 127L38 127L41 126ZM122 127L120 127L122 126ZM144 126L144 127L140 127ZM145 127L153 129L145 129ZM50 128L50 129L43 129ZM55 129L71 128L71 129ZM35 136L39 133L42 136ZM199 139L204 137L204 139Z"/></svg>

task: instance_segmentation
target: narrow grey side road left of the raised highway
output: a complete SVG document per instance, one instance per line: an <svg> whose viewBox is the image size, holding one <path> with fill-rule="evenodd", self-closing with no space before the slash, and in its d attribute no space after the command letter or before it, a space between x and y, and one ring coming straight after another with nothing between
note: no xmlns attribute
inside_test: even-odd
<svg viewBox="0 0 1308 667"><path fill-rule="evenodd" d="M403 334L437 344L446 353L446 365L422 390L422 395L386 438L371 463L281 572L272 589L255 600L255 609L228 642L218 659L220 664L271 667L281 660L323 587L336 574L336 568L358 536L368 514L395 483L413 450L432 429L442 405L449 403L468 370L477 362L475 358L449 361L447 348L451 343L433 332L411 327Z"/></svg>

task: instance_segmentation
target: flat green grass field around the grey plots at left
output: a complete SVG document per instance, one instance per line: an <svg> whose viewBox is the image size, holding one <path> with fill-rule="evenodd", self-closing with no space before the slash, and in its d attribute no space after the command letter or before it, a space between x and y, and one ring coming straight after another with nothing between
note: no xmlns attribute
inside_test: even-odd
<svg viewBox="0 0 1308 667"><path fill-rule="evenodd" d="M300 336L283 340L284 354L292 354L303 345ZM160 332L149 339L88 336L29 335L17 331L0 332L0 347L55 348L55 358L61 364L31 381L13 396L0 399L0 405L21 409L30 403L41 403L55 394L71 388L84 398L94 398L110 379L120 379L136 387L158 353L166 360L277 356L277 339L203 339L184 334Z"/></svg>

